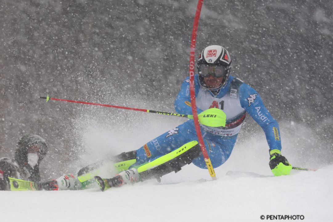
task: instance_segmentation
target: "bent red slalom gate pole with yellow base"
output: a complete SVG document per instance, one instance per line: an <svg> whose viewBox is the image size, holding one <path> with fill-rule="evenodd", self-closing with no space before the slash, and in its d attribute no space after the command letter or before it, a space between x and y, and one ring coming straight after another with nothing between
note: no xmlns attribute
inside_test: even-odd
<svg viewBox="0 0 333 222"><path fill-rule="evenodd" d="M203 0L199 0L198 4L196 6L195 16L194 16L194 22L193 22L193 28L192 28L192 38L191 38L191 45L190 45L190 54L189 54L189 86L190 86L190 95L191 95L191 104L192 104L192 114L194 119L194 125L196 134L198 136L199 144L201 147L201 152L203 154L203 157L206 162L207 169L209 171L210 176L213 180L216 180L216 175L214 168L211 164L210 158L207 153L207 149L205 147L205 144L203 142L200 125L199 125L199 119L198 119L198 113L196 111L196 103L195 103L195 90L194 90L194 57L195 57L195 44L196 44L196 33L198 30L198 24L200 19L200 12L202 8Z"/></svg>

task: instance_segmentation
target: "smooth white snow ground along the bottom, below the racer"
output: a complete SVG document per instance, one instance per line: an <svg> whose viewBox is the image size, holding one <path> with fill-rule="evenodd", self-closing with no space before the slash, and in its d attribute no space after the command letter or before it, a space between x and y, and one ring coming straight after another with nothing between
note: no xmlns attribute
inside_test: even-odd
<svg viewBox="0 0 333 222"><path fill-rule="evenodd" d="M333 166L289 176L226 175L217 180L194 165L164 176L101 192L0 191L1 221L262 221L261 215L303 215L332 221ZM230 174L230 172L228 173ZM266 219L264 219L266 220ZM299 220L301 221L301 220Z"/></svg>

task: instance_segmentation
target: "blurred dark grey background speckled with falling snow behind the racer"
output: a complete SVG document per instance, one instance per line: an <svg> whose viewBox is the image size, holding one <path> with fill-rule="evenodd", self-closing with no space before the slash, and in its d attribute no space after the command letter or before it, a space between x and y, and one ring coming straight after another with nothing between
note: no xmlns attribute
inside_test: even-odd
<svg viewBox="0 0 333 222"><path fill-rule="evenodd" d="M46 104L39 96L174 111L188 75L196 4L0 0L1 156L13 155L25 133L46 138L53 163L85 151L75 119L93 108ZM307 155L318 152L327 163L333 156L332 9L330 0L205 1L196 45L197 55L207 45L226 47L231 75L254 87L278 122L311 129L288 133L306 140ZM243 131L252 126L249 121Z"/></svg>

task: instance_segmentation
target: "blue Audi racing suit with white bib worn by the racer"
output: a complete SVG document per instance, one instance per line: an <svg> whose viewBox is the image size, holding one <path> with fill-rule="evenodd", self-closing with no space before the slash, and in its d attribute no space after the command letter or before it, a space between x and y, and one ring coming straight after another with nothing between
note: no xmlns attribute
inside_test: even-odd
<svg viewBox="0 0 333 222"><path fill-rule="evenodd" d="M214 168L222 165L229 158L246 112L264 130L269 149L281 150L278 123L252 87L230 76L224 87L214 95L210 90L200 87L198 75L194 75L194 83L198 113L210 108L218 108L226 114L225 127L200 124L203 140ZM181 85L174 108L178 113L192 114L189 77ZM140 147L137 150L136 165L165 155L192 140L197 140L197 134L193 119L190 119ZM192 162L200 168L207 168L202 154Z"/></svg>

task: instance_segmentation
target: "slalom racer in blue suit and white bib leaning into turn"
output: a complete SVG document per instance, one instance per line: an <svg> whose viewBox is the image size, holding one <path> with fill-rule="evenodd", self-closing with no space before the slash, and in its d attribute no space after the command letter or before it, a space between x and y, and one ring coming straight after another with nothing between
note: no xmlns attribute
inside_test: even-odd
<svg viewBox="0 0 333 222"><path fill-rule="evenodd" d="M292 167L281 155L278 123L264 106L258 92L241 80L230 76L229 52L222 46L208 46L200 53L196 67L198 74L194 76L194 82L198 113L209 108L218 108L227 116L225 127L209 127L201 124L204 143L213 167L222 165L229 158L247 112L266 135L272 173L275 176L288 175ZM189 77L187 77L174 102L174 108L178 113L192 114L189 89ZM196 138L193 120L188 120L139 148L136 152L135 165L165 155ZM206 168L202 154L193 159L192 163L200 168ZM119 186L135 181L140 181L140 175L133 167L105 182L110 183L110 186Z"/></svg>

